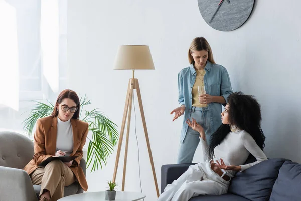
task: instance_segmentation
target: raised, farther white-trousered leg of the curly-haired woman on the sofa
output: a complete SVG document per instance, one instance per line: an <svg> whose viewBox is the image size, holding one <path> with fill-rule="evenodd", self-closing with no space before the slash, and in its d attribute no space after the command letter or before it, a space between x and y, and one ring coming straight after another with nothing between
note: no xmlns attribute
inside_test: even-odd
<svg viewBox="0 0 301 201"><path fill-rule="evenodd" d="M171 200L184 182L203 180L204 177L205 174L199 168L199 164L191 165L177 180L174 180L173 183L166 186L164 192L158 198L158 201Z"/></svg>

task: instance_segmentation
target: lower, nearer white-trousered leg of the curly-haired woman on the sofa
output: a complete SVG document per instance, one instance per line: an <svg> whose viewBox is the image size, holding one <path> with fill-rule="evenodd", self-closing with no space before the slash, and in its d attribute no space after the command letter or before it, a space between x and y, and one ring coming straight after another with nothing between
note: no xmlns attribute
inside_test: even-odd
<svg viewBox="0 0 301 201"><path fill-rule="evenodd" d="M220 195L227 193L227 185L209 179L202 181L185 181L175 193L172 201L188 201L198 195Z"/></svg>

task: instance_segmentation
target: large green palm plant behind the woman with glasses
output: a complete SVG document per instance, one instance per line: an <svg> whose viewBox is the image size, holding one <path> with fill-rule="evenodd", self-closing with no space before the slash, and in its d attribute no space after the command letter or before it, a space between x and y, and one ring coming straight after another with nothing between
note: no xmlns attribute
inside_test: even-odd
<svg viewBox="0 0 301 201"><path fill-rule="evenodd" d="M23 121L24 130L30 137L34 126L39 118L49 116L54 105L47 101L47 104L35 101L36 105L30 110L29 116ZM108 157L112 154L114 146L118 141L118 132L116 124L106 117L98 109L91 111L84 110L84 106L91 104L91 100L84 96L80 98L80 116L84 122L89 123L89 131L92 132L92 139L88 145L87 167L92 165L91 172L102 169L103 164L106 165ZM84 112L84 113L83 113ZM83 113L83 114L82 114Z"/></svg>

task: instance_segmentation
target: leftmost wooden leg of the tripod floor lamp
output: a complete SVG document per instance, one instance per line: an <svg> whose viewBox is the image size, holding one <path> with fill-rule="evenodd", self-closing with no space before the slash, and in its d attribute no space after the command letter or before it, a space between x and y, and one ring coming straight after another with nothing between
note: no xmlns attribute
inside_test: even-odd
<svg viewBox="0 0 301 201"><path fill-rule="evenodd" d="M122 141L123 141L123 133L124 133L124 129L125 129L127 111L128 111L128 106L129 106L128 103L129 103L130 89L131 89L131 79L129 79L129 81L128 81L127 94L126 94L125 106L124 106L124 112L123 112L123 118L122 118L122 125L121 125L121 131L120 131L118 148L117 148L117 155L116 155L116 161L115 161L113 182L116 181L116 175L117 175L117 170L118 170L118 163L119 163L119 158L120 158L120 151L121 151Z"/></svg>

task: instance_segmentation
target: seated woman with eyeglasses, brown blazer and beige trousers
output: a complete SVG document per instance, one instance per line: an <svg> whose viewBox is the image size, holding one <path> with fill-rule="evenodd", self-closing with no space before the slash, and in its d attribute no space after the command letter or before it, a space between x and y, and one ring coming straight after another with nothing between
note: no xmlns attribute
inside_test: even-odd
<svg viewBox="0 0 301 201"><path fill-rule="evenodd" d="M52 114L38 119L34 135L33 159L24 170L30 175L34 185L41 185L40 201L56 201L64 196L64 187L75 181L87 191L88 185L82 168L83 146L89 125L79 120L80 103L72 90L63 90L55 103ZM60 160L49 162L45 167L38 166L49 157L77 156L63 163Z"/></svg>

